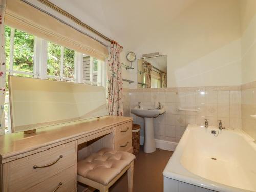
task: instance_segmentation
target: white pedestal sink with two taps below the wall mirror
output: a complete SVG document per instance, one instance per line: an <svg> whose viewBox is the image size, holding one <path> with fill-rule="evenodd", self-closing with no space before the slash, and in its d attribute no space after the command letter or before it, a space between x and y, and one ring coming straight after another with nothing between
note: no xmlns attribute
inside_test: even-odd
<svg viewBox="0 0 256 192"><path fill-rule="evenodd" d="M156 151L154 123L153 118L165 112L165 106L161 109L156 108L133 108L131 113L144 118L145 131L144 131L144 152L152 153Z"/></svg>

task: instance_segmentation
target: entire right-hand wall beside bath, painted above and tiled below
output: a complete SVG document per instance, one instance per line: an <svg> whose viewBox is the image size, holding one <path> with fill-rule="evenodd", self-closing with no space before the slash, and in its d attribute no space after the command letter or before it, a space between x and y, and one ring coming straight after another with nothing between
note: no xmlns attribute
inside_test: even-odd
<svg viewBox="0 0 256 192"><path fill-rule="evenodd" d="M256 1L241 0L241 73L242 73L242 128L256 139ZM248 84L249 83L249 84Z"/></svg>

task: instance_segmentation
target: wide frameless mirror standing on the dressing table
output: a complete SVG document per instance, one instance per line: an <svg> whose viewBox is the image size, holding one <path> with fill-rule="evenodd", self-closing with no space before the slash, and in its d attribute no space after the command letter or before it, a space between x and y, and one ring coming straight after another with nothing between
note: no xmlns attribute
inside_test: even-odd
<svg viewBox="0 0 256 192"><path fill-rule="evenodd" d="M101 86L9 76L12 133L108 115Z"/></svg>

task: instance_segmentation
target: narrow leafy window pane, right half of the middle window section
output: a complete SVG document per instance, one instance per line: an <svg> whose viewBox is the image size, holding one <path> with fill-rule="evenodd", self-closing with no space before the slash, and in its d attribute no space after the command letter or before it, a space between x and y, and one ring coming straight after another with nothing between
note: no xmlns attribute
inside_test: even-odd
<svg viewBox="0 0 256 192"><path fill-rule="evenodd" d="M64 48L64 77L74 78L75 51Z"/></svg>

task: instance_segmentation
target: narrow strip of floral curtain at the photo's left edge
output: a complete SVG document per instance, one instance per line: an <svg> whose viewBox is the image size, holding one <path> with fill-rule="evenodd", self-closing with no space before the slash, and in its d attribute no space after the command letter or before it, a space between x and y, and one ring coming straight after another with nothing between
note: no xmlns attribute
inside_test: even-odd
<svg viewBox="0 0 256 192"><path fill-rule="evenodd" d="M6 0L0 0L0 135L5 134L5 112L4 112L4 105L5 105L5 5Z"/></svg>

